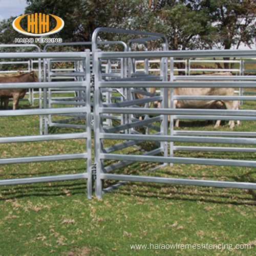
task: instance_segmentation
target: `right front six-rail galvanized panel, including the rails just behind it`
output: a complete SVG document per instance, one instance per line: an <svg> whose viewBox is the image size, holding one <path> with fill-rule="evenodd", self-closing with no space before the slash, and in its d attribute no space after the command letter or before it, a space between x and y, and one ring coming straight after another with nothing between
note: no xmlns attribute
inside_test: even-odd
<svg viewBox="0 0 256 256"><path fill-rule="evenodd" d="M140 40L138 40L140 41ZM173 57L228 57L228 56L253 56L256 55L256 51L170 51L170 52L125 52L122 54L123 58L160 58L162 63L165 62L167 58ZM94 63L97 63L101 58L112 59L121 57L119 53L114 52L99 52L95 51L94 53ZM172 61L171 61L172 63ZM172 65L171 65L172 66ZM103 81L100 76L100 70L95 69L95 75L98 74L96 79L96 89L100 90L105 88L128 88L134 90L136 93L139 93L137 88L148 88L155 87L161 88L160 96L162 96L162 102L166 94L164 90L167 88L255 88L256 87L256 76L228 76L224 78L223 76L187 76L188 81L184 81L184 76L174 76L174 72L170 72L171 79L167 81L164 71L164 65L161 67L161 81L152 81L150 78L147 81L141 81L139 78L126 78L118 80ZM130 80L129 80L130 79ZM179 81L183 80L183 81ZM176 81L174 81L176 80ZM191 81L192 80L192 81ZM201 81L200 81L201 80ZM203 81L202 81L203 80ZM242 81L241 81L242 80ZM97 91L96 90L96 91ZM150 95L148 95L150 96ZM241 144L241 145L255 145L255 138L246 138L251 135L255 136L254 133L234 133L233 136L242 136L242 138L234 137L222 137L222 136L232 136L232 132L205 132L199 133L200 136L187 136L188 133L178 135L179 131L171 131L170 136L167 135L161 129L161 132L154 135L144 135L144 134L120 134L115 133L119 129L115 127L105 130L101 126L100 116L103 114L151 114L151 115L162 115L163 118L167 115L170 115L173 119L176 118L187 118L187 119L223 119L223 120L256 120L256 111L253 110L197 110L197 109L167 109L167 106L162 104L161 109L150 109L150 108L137 108L133 105L136 104L136 100L130 100L129 102L122 102L117 104L104 105L100 102L100 94L97 95L98 102L95 104L96 115L98 120L96 123L96 151L95 157L97 161L97 175L96 175L96 187L95 194L98 198L102 196L102 180L122 180L122 181L140 181L140 182L159 182L159 183L168 183L168 184L186 184L186 185L202 185L202 186L216 186L216 187L235 187L235 188L247 188L247 189L256 189L255 183L245 183L245 182L227 182L227 181L205 181L205 180L187 180L187 179L173 179L173 178L160 178L160 177L146 177L146 176L127 176L122 174L110 173L115 169L123 167L125 164L130 164L135 161L150 161L150 162L160 162L160 163L185 163L185 164L207 164L207 165L224 165L224 166L243 166L243 167L256 167L256 161L249 160L230 160L230 159L204 159L204 158L184 158L184 157L174 157L172 153L170 156L147 156L147 155L123 155L123 154L113 154L116 150L123 148L125 146L135 145L135 141L157 141L157 142L193 142L193 143L214 143L214 144ZM147 98L146 98L147 99ZM174 99L198 99L198 100L255 100L255 97L244 97L244 96L173 96ZM172 102L171 101L171 102ZM165 101L167 102L167 100ZM172 104L172 103L171 103ZM140 123L138 121L138 123ZM129 125L136 124L127 124ZM98 128L98 129L97 129ZM177 133L177 135L176 135ZM196 133L196 132L195 132ZM208 133L208 134L207 134ZM205 136L218 136L218 137L205 137ZM243 137L244 135L244 137ZM112 146L109 150L104 151L102 140L122 140L125 141L121 144ZM164 145L164 144L162 144ZM163 148L163 147L162 147ZM227 151L227 152L255 152L255 148L242 148L242 147L221 147L221 146L175 146L173 145L172 151L175 150L195 150L195 151ZM111 153L111 154L110 154ZM121 161L114 165L105 167L103 164L104 160L116 160Z"/></svg>

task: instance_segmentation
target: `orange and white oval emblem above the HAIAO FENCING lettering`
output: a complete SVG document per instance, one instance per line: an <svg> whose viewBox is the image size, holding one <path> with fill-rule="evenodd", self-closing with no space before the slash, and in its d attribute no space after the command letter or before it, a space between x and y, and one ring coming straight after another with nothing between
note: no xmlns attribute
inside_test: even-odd
<svg viewBox="0 0 256 256"><path fill-rule="evenodd" d="M54 29L49 31L49 15L51 15L53 18L55 18L57 25ZM22 27L20 27L20 20L24 18L25 16L28 17L28 28L27 31L25 31ZM51 35L54 33L59 32L64 27L63 19L61 19L58 16L55 16L53 14L41 14L39 15L37 13L35 14L25 14L22 16L19 16L13 20L12 27L18 31L19 33L22 33L24 35L30 35L30 36L42 36L42 35Z"/></svg>

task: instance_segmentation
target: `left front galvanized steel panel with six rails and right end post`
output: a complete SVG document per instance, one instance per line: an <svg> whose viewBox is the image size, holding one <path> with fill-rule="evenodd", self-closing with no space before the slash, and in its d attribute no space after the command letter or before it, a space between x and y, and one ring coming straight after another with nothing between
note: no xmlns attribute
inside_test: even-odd
<svg viewBox="0 0 256 256"><path fill-rule="evenodd" d="M0 89L17 89L17 88L79 88L86 91L86 105L80 108L43 108L33 110L10 110L0 111L0 116L24 116L24 115L48 115L48 114L79 114L86 115L85 131L80 133L69 134L54 134L54 135L33 135L33 136L15 136L15 137L1 137L0 143L21 143L21 142L35 142L35 141L52 141L52 140L68 140L68 139L86 139L86 152L65 155L48 155L48 156L32 156L32 157L16 157L0 159L0 164L15 164L15 163L31 163L31 162L48 162L48 161L63 161L63 160L86 160L86 172L81 174L70 175L55 175L46 177L20 178L0 180L0 185L14 185L26 184L35 182L53 182L74 179L87 180L87 197L92 197L92 148L91 148L91 87L90 87L90 51L82 53L0 53L0 58L49 58L58 57L60 59L82 58L86 62L86 76L85 81L79 82L39 82L39 83L0 83ZM46 105L44 104L44 107Z"/></svg>

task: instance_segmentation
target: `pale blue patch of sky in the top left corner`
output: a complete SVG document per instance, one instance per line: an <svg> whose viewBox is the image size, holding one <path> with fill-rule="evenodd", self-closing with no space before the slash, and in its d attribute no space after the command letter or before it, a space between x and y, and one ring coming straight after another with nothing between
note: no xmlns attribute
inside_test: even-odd
<svg viewBox="0 0 256 256"><path fill-rule="evenodd" d="M26 0L0 0L0 21L10 16L24 14Z"/></svg>

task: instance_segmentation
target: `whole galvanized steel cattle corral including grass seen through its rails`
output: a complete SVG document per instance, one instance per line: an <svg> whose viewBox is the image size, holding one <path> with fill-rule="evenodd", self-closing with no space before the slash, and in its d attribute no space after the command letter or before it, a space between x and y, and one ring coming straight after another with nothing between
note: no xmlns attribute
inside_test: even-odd
<svg viewBox="0 0 256 256"><path fill-rule="evenodd" d="M106 42L101 32L139 37ZM150 40L162 42L162 48L132 50L134 44L147 48ZM123 51L99 50L102 44L104 49L120 45ZM4 65L8 59L10 65L15 59L27 61L28 69L23 70L36 70L40 79L0 84L1 89L31 89L29 100L34 104L26 101L20 110L0 112L1 185L87 179L88 198L93 183L95 195L101 198L104 191L125 181L256 188L254 50L168 51L164 35L107 28L97 29L92 42L80 45L92 51L55 52L48 51L52 49L48 45L43 51L0 53ZM223 69L222 57L237 59ZM232 75L218 75L223 71ZM234 94L174 95L174 88L233 88ZM243 104L240 110L176 109L175 100ZM160 108L154 109L154 102ZM174 127L176 119L181 120L179 129ZM204 120L240 120L241 125L230 130L226 122L224 128L215 129ZM202 174L196 175L189 166ZM212 170L219 179L204 175L198 166ZM223 166L238 178L223 177Z"/></svg>

